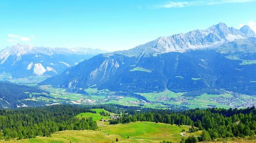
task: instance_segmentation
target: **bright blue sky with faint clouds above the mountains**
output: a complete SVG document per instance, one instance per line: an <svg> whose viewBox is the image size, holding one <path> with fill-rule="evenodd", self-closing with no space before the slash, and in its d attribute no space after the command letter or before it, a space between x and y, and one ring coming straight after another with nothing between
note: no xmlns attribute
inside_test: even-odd
<svg viewBox="0 0 256 143"><path fill-rule="evenodd" d="M219 22L256 31L255 7L255 0L1 0L0 49L21 43L114 51Z"/></svg>

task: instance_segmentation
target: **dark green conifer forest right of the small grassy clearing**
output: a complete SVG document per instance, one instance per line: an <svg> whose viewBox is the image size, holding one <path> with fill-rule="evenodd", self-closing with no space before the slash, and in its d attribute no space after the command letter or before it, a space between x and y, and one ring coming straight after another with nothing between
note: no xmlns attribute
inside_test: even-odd
<svg viewBox="0 0 256 143"><path fill-rule="evenodd" d="M224 115L223 115L224 114ZM133 114L125 113L119 119L111 120L110 124L130 123L136 121L161 122L177 125L190 125L191 132L204 130L210 139L225 137L252 136L256 133L256 109L255 107L246 109L190 109L185 111L171 110L142 110ZM205 138L197 138L205 140ZM196 140L197 140L196 139ZM208 139L208 137L207 137ZM188 140L194 140L189 138Z"/></svg>

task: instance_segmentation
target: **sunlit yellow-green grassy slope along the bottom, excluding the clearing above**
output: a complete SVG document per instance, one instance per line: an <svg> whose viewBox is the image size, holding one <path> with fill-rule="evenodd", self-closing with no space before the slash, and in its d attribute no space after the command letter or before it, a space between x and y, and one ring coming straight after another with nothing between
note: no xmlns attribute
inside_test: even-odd
<svg viewBox="0 0 256 143"><path fill-rule="evenodd" d="M119 142L160 142L172 140L179 142L182 138L181 130L188 131L187 126L176 126L164 123L135 122L129 124L104 125L98 124L97 131L59 131L51 137L36 137L31 139L10 140L1 142L112 142L116 137ZM129 136L129 138L127 138Z"/></svg>

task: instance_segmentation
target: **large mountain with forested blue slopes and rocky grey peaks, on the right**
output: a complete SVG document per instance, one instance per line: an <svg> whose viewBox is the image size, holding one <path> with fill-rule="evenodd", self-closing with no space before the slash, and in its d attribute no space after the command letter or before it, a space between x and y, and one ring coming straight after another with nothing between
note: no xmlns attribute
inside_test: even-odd
<svg viewBox="0 0 256 143"><path fill-rule="evenodd" d="M125 92L209 89L256 94L256 38L224 23L160 37L130 50L99 54L40 84L73 91L90 86Z"/></svg>

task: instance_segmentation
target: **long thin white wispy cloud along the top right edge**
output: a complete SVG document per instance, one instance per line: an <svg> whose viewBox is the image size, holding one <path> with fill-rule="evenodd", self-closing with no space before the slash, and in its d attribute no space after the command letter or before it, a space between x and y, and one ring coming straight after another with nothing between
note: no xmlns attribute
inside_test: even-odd
<svg viewBox="0 0 256 143"><path fill-rule="evenodd" d="M230 3L247 3L256 0L217 0L217 1L168 1L164 4L153 6L154 9L160 8L184 8L184 7L193 7L193 6L209 6L209 5L221 5L221 4L230 4Z"/></svg>

